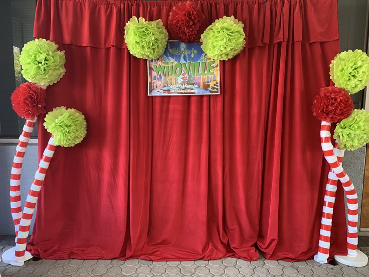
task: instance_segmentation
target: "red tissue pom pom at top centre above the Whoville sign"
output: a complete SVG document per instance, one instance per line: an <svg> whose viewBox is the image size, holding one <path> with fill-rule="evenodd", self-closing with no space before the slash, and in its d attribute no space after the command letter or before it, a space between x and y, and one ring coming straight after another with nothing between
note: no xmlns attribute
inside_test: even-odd
<svg viewBox="0 0 369 277"><path fill-rule="evenodd" d="M168 18L168 29L174 39L181 42L194 42L200 38L200 28L205 16L193 2L187 1L175 5Z"/></svg>

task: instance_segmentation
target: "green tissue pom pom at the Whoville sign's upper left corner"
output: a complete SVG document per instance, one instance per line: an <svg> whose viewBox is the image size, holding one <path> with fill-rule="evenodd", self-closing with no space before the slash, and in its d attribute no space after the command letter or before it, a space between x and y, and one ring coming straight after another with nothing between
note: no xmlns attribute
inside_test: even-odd
<svg viewBox="0 0 369 277"><path fill-rule="evenodd" d="M142 59L157 59L164 52L168 32L160 19L145 21L132 17L124 27L124 41L129 52Z"/></svg>

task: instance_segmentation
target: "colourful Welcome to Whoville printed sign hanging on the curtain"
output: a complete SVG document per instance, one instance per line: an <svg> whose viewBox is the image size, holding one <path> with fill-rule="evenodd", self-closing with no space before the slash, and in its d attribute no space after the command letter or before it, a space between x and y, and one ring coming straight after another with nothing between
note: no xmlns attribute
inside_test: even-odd
<svg viewBox="0 0 369 277"><path fill-rule="evenodd" d="M168 41L164 53L148 60L148 95L219 94L219 61L200 44Z"/></svg>

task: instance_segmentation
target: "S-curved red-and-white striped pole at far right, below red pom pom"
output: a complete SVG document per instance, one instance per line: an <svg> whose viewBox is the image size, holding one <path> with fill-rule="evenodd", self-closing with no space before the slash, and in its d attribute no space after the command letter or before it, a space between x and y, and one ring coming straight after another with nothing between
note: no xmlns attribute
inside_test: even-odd
<svg viewBox="0 0 369 277"><path fill-rule="evenodd" d="M346 199L347 199L347 253L349 256L356 256L357 248L357 220L358 220L358 202L355 187L353 186L350 178L345 173L344 169L340 165L337 156L334 155L333 146L330 141L330 125L331 123L322 121L320 127L320 139L321 148L323 150L324 158L329 163L331 169L335 173L336 177L342 183ZM331 219L322 218L322 224L331 222ZM319 246L322 248L329 248L329 244L321 243ZM324 247L325 246L325 247ZM319 248L319 250L323 250Z"/></svg>

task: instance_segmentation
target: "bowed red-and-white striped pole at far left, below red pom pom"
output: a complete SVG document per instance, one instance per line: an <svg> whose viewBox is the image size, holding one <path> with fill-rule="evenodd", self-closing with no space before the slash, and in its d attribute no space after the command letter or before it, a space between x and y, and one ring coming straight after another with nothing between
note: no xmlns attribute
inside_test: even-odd
<svg viewBox="0 0 369 277"><path fill-rule="evenodd" d="M23 126L23 131L19 137L16 153L14 155L12 173L10 177L10 205L16 236L18 235L19 223L22 217L22 203L21 203L22 165L32 131L35 127L35 122L36 117L32 120L30 119L26 120L26 123Z"/></svg>

